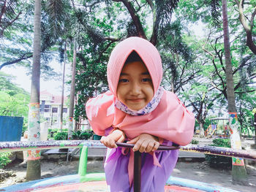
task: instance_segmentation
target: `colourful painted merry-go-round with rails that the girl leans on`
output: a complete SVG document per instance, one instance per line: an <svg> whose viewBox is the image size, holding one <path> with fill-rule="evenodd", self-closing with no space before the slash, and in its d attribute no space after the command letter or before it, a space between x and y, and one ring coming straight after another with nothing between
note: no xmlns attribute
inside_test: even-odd
<svg viewBox="0 0 256 192"><path fill-rule="evenodd" d="M118 143L119 146L133 147L124 143ZM87 151L88 147L102 147L99 141L43 141L43 142L0 142L0 152L8 151L19 151L19 150L42 150L52 148L67 148L67 147L80 147L82 148L80 154L80 163L78 174L68 175L64 177L53 177L44 180L36 180L28 183L21 183L18 185L12 185L7 188L1 188L0 191L86 191L86 188L91 186L99 187L102 186L106 191L107 186L105 182L90 183L92 181L105 180L105 174L86 174L87 164ZM177 147L161 146L159 150L175 150ZM223 147L212 147L212 146L199 146L199 145L188 145L181 147L180 150L187 150L190 152L208 153L214 155L225 155L234 156L239 158L249 158L256 161L256 153L249 150L233 150L230 148ZM140 153L135 158L136 166L139 166L138 162L140 159ZM136 169L140 169L137 167ZM138 173L139 174L139 173ZM137 180L137 189L140 191L140 178ZM85 182L85 183L84 183ZM169 186L170 185L170 186ZM100 191L101 189L99 189ZM192 180L184 180L176 177L170 177L167 180L165 191L227 191L237 192L232 189L222 188L206 183L195 182Z"/></svg>

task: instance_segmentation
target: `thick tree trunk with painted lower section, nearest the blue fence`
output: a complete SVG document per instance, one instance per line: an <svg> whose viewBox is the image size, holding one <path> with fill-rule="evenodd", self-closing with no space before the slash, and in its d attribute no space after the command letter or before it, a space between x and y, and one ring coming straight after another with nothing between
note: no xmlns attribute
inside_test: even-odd
<svg viewBox="0 0 256 192"><path fill-rule="evenodd" d="M34 1L34 45L29 103L29 141L40 140L40 49L41 49L41 0ZM26 180L41 179L40 150L29 150Z"/></svg>

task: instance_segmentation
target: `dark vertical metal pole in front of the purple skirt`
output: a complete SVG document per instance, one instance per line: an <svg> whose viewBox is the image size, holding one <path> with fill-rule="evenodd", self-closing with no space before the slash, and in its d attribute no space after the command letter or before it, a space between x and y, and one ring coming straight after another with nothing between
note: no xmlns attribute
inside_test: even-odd
<svg viewBox="0 0 256 192"><path fill-rule="evenodd" d="M135 151L134 156L134 168L133 168L133 190L134 192L140 192L141 183L141 153L140 151Z"/></svg>

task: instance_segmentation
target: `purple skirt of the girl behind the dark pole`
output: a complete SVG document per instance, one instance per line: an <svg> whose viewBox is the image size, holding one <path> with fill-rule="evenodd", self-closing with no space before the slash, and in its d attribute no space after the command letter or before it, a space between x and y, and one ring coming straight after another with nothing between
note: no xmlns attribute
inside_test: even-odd
<svg viewBox="0 0 256 192"><path fill-rule="evenodd" d="M172 145L165 141L163 145ZM141 192L165 191L165 183L178 159L178 150L155 152L159 164L155 166L153 155L141 154ZM128 176L129 153L123 155L121 147L109 149L105 161L105 175L111 192L133 192L133 184L129 186Z"/></svg>

